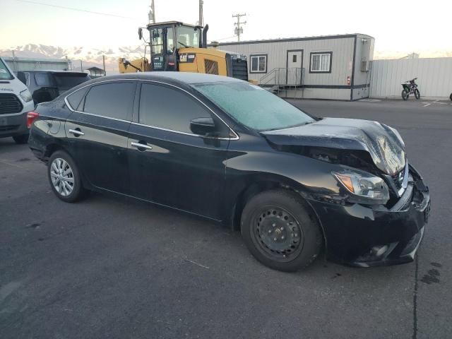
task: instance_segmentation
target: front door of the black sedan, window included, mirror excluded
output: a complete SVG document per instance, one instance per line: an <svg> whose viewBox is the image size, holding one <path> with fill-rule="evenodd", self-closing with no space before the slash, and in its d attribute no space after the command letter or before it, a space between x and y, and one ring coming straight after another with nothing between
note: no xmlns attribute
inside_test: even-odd
<svg viewBox="0 0 452 339"><path fill-rule="evenodd" d="M133 196L219 219L229 128L180 88L140 87L138 121L129 130ZM218 136L194 134L190 121L196 118L215 119Z"/></svg>

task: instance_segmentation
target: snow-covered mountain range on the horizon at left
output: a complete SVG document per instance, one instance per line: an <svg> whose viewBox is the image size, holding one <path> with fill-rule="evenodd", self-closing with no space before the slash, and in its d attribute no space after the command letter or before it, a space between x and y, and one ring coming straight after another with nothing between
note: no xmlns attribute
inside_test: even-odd
<svg viewBox="0 0 452 339"><path fill-rule="evenodd" d="M71 61L74 70L83 69L91 66L102 68L102 55L105 55L105 69L108 73L118 72L118 59L126 58L129 60L138 59L144 55L144 46L123 46L117 48L88 48L88 47L54 47L44 44L25 44L23 46L0 49L0 56L3 57L24 57L34 59L64 59Z"/></svg>

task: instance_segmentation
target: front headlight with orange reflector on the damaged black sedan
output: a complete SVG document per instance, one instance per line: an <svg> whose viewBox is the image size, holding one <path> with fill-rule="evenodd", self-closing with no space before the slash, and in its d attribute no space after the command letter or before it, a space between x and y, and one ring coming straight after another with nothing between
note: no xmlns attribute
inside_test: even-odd
<svg viewBox="0 0 452 339"><path fill-rule="evenodd" d="M351 169L333 172L333 175L350 193L350 202L384 205L389 200L388 185L380 177Z"/></svg>

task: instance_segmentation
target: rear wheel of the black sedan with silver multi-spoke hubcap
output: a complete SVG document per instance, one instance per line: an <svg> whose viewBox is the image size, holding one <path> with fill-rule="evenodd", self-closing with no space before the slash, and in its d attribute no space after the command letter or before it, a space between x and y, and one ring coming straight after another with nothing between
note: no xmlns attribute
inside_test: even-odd
<svg viewBox="0 0 452 339"><path fill-rule="evenodd" d="M72 157L63 150L57 150L49 158L47 177L54 194L66 203L73 203L85 196L80 172Z"/></svg>

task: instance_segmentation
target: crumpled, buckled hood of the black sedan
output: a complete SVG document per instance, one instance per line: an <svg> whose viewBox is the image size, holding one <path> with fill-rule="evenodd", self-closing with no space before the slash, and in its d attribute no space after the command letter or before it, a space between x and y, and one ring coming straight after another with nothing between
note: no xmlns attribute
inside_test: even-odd
<svg viewBox="0 0 452 339"><path fill-rule="evenodd" d="M376 121L324 118L302 126L261 133L275 145L365 150L376 167L390 175L405 167L403 141L389 126Z"/></svg>

